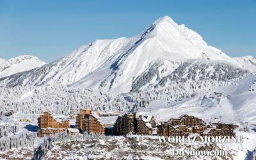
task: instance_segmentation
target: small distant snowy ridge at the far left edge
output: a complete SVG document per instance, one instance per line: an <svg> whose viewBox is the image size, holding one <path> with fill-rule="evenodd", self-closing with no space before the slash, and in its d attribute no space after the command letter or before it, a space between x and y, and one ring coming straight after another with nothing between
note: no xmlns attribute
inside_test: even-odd
<svg viewBox="0 0 256 160"><path fill-rule="evenodd" d="M36 67L41 67L45 62L35 56L17 56L10 60L0 59L0 77L10 76Z"/></svg>

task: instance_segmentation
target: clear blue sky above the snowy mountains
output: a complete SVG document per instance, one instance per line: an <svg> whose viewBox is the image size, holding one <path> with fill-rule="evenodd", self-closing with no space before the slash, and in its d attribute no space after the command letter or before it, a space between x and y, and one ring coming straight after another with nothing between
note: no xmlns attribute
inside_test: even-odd
<svg viewBox="0 0 256 160"><path fill-rule="evenodd" d="M137 35L164 15L229 56L256 56L256 0L0 0L0 58L54 61L96 39Z"/></svg>

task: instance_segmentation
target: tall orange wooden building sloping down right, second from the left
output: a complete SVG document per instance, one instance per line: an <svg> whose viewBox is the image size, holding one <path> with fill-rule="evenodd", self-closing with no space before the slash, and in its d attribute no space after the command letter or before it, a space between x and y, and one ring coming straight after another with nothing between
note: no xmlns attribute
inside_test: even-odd
<svg viewBox="0 0 256 160"><path fill-rule="evenodd" d="M76 128L81 132L104 134L104 125L100 121L99 114L90 109L81 109L76 116Z"/></svg>

